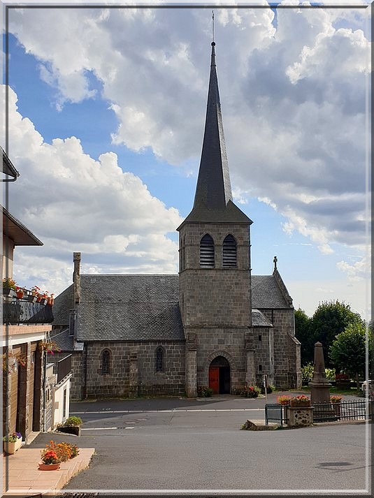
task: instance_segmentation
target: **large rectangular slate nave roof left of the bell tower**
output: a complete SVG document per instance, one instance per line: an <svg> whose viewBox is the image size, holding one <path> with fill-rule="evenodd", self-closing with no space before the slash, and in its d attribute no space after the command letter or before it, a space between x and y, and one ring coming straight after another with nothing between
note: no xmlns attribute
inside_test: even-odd
<svg viewBox="0 0 374 498"><path fill-rule="evenodd" d="M184 340L178 275L81 275L78 341Z"/></svg>

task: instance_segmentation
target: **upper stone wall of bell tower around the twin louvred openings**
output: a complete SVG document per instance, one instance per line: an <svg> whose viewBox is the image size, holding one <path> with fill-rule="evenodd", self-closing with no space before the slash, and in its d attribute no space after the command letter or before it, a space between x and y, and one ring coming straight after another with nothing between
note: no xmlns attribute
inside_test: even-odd
<svg viewBox="0 0 374 498"><path fill-rule="evenodd" d="M215 243L215 268L200 267L200 241L208 233ZM237 267L222 268L226 235L237 243ZM180 308L185 327L250 325L250 235L246 224L185 224L184 266L180 268Z"/></svg>

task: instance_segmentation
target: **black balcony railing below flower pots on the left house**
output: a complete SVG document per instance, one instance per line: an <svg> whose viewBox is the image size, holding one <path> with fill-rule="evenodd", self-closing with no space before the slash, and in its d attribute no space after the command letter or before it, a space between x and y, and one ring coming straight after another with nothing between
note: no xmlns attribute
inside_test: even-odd
<svg viewBox="0 0 374 498"><path fill-rule="evenodd" d="M16 298L13 295L3 295L3 323L17 325L18 323L52 323L52 306L41 302L29 301L29 295Z"/></svg>

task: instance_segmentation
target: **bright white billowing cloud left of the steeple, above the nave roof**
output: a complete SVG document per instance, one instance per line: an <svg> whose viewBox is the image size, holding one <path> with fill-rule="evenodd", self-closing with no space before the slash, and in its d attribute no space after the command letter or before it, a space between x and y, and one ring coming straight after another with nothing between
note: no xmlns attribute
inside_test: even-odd
<svg viewBox="0 0 374 498"><path fill-rule="evenodd" d="M101 272L176 272L178 245L166 234L182 221L178 210L166 208L140 178L124 172L113 152L95 161L78 138L44 142L17 111L11 89L8 117L10 159L22 171L10 186L9 209L45 244L17 248L15 277L22 277L22 285L61 291L71 279L66 262L73 251L82 251L82 271L94 264ZM31 268L41 271L35 275Z"/></svg>

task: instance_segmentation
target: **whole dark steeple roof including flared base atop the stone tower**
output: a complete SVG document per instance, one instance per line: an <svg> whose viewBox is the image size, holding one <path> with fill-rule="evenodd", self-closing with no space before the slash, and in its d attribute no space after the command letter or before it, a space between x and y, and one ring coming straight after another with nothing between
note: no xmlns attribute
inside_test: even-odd
<svg viewBox="0 0 374 498"><path fill-rule="evenodd" d="M232 198L213 42L206 124L194 207L182 225L185 222L251 224L247 215L233 204Z"/></svg>

